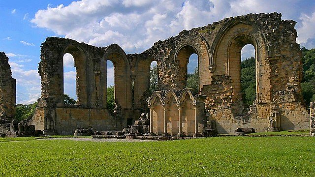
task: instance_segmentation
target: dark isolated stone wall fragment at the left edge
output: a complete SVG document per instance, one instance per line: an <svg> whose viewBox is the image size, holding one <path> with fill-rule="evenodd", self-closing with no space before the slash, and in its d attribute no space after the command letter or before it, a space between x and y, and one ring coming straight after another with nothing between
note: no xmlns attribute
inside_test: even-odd
<svg viewBox="0 0 315 177"><path fill-rule="evenodd" d="M0 52L0 118L13 119L15 116L16 80L12 78L9 59Z"/></svg>

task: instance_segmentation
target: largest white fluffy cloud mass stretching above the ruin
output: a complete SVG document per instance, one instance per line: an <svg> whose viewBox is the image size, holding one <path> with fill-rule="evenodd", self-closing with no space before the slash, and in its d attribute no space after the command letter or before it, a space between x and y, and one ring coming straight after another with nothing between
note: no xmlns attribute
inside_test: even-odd
<svg viewBox="0 0 315 177"><path fill-rule="evenodd" d="M302 11L310 12L312 5L301 8L299 4L299 0L81 0L39 10L32 23L95 46L117 43L127 53L134 53L182 29L247 13L277 11L283 13L284 19L307 23L306 16L299 16ZM309 38L302 32L300 35L303 41Z"/></svg>

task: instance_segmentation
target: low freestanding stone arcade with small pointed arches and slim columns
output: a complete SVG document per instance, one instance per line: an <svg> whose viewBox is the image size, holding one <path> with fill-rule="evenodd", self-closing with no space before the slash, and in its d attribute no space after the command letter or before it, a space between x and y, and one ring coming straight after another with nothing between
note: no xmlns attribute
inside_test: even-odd
<svg viewBox="0 0 315 177"><path fill-rule="evenodd" d="M160 136L201 136L205 132L205 95L189 89L155 91L148 99L150 133Z"/></svg>

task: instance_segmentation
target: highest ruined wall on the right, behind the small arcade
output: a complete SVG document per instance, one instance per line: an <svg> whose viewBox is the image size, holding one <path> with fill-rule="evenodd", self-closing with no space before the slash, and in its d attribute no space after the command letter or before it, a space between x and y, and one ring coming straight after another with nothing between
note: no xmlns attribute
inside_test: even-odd
<svg viewBox="0 0 315 177"><path fill-rule="evenodd" d="M198 55L199 90L207 96L207 115L219 133L240 127L256 131L306 129L308 112L301 97L301 51L296 22L281 14L248 14L183 30L140 54L158 61L159 89L184 89L189 55ZM255 48L257 99L243 106L240 61L246 44ZM275 118L277 115L277 118ZM275 125L279 127L271 127ZM273 122L273 123L271 123Z"/></svg>

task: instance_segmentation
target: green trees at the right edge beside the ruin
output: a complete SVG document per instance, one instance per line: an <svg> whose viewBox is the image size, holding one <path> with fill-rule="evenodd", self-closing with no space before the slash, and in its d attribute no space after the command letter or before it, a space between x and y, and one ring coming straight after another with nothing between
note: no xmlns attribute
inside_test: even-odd
<svg viewBox="0 0 315 177"><path fill-rule="evenodd" d="M302 94L306 105L315 101L315 49L302 47L303 79L301 83Z"/></svg>

